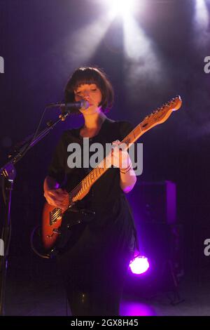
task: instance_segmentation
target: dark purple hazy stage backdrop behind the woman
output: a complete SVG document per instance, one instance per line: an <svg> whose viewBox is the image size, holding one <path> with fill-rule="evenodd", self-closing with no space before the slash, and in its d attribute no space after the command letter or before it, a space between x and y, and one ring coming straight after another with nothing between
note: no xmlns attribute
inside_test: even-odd
<svg viewBox="0 0 210 330"><path fill-rule="evenodd" d="M209 15L210 1L206 5ZM91 47L106 11L103 1L94 0L0 0L0 55L5 62L0 74L0 164L15 143L34 131L45 105L63 99L66 81L80 65L96 64L111 79L116 91L108 114L112 119L137 125L156 107L181 95L181 110L139 140L144 143L144 171L138 183L176 183L184 270L191 277L205 276L210 263L203 252L204 239L210 237L210 74L204 72L204 58L210 55L210 25L195 26L194 0L146 1L134 17L153 46L147 50L142 42L144 55L135 62L125 56L120 19L113 20L95 49ZM93 29L95 20L99 22ZM89 58L87 46L92 49ZM48 110L43 127L58 113ZM25 272L33 277L34 265L40 267L29 235L41 221L43 180L60 134L80 123L77 117L59 123L16 166L10 245L10 272L16 275L19 269L20 276Z"/></svg>

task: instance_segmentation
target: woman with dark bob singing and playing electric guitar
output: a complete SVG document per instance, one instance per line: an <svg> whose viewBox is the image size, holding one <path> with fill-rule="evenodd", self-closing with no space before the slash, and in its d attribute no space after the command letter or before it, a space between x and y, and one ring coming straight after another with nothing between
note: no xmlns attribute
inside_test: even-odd
<svg viewBox="0 0 210 330"><path fill-rule="evenodd" d="M66 210L67 191L91 170L69 168L70 143L83 147L83 138L89 138L90 145L97 142L105 147L113 143L115 151L113 166L84 198L85 206L95 212L93 220L83 225L73 246L66 244L57 261L72 315L119 315L123 282L136 240L125 192L132 190L137 178L129 154L118 150L118 144L132 131L132 125L106 117L105 112L113 104L113 88L97 67L80 67L73 72L66 84L65 98L66 103L86 100L90 106L75 110L83 114L83 126L65 131L59 140L44 182L47 202Z"/></svg>

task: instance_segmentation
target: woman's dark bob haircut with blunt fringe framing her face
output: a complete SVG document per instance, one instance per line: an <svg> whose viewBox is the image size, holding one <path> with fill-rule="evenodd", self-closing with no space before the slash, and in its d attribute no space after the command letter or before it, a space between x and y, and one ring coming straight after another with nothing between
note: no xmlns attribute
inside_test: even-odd
<svg viewBox="0 0 210 330"><path fill-rule="evenodd" d="M102 102L99 106L102 107L103 112L108 112L113 105L113 86L106 77L105 72L98 67L79 67L76 69L65 87L65 103L72 103L75 101L74 91L78 86L83 84L96 84L102 93ZM80 114L80 111L72 109L75 114Z"/></svg>

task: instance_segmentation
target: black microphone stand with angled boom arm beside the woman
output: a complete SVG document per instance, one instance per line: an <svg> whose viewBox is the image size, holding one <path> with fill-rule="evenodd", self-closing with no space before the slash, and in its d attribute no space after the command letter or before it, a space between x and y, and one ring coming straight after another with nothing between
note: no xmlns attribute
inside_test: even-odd
<svg viewBox="0 0 210 330"><path fill-rule="evenodd" d="M10 232L11 232L11 222L10 222L10 207L11 207L11 198L12 198L12 191L13 191L13 184L16 176L15 164L25 156L25 150L27 151L34 147L36 143L41 141L52 128L54 128L59 121L64 121L67 116L69 116L71 112L66 111L59 115L59 119L55 122L50 122L48 127L45 128L41 133L36 136L31 143L28 145L28 142L25 143L24 146L20 148L20 150L13 156L8 163L3 165L0 169L0 175L3 176L2 178L2 190L3 190L3 199L6 204L6 211L5 216L3 219L3 227L1 230L1 240L0 244L3 244L4 249L3 256L0 255L0 315L5 314L4 310L4 303L5 303L5 287L6 287L6 272L8 268L8 252L10 246ZM27 146L26 146L27 145Z"/></svg>

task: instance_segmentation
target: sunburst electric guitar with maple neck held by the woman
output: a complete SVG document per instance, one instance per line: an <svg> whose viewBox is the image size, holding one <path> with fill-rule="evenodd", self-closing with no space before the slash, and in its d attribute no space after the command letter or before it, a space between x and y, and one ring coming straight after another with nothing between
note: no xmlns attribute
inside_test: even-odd
<svg viewBox="0 0 210 330"><path fill-rule="evenodd" d="M130 145L137 141L146 131L165 122L172 114L172 111L179 110L181 103L180 96L177 96L148 115L121 141L124 145L123 150L127 150ZM43 248L48 255L55 252L57 245L64 246L64 244L66 244L69 236L67 235L67 237L64 238L64 233L70 232L69 230L71 230L73 226L84 224L92 219L94 211L79 207L80 201L82 201L90 191L90 187L92 187L110 167L111 157L109 154L97 167L92 169L71 192L69 192L69 207L66 211L63 212L62 209L55 208L55 206L51 206L47 202L45 203L43 207L41 237ZM57 242L62 242L62 244L57 244Z"/></svg>

